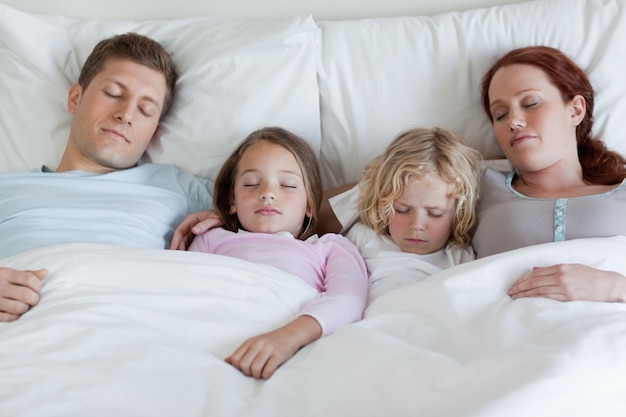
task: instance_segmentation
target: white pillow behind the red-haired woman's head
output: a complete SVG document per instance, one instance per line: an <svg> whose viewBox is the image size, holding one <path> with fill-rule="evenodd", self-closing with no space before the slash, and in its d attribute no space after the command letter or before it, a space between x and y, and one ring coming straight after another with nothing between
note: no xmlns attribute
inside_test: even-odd
<svg viewBox="0 0 626 417"><path fill-rule="evenodd" d="M560 48L588 72L597 92L595 133L626 154L625 7L623 0L554 0L318 22L326 185L358 181L371 158L414 127L448 128L485 157L501 154L480 82L499 56L528 45Z"/></svg>

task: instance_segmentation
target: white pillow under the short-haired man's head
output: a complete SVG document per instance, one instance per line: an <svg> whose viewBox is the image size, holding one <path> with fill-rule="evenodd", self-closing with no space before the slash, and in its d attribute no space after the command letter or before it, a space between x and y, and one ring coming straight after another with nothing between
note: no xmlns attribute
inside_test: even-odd
<svg viewBox="0 0 626 417"><path fill-rule="evenodd" d="M57 166L71 123L69 87L98 41L125 32L161 42L180 77L147 159L213 179L239 141L268 125L319 151L320 34L310 16L81 20L0 4L0 172Z"/></svg>

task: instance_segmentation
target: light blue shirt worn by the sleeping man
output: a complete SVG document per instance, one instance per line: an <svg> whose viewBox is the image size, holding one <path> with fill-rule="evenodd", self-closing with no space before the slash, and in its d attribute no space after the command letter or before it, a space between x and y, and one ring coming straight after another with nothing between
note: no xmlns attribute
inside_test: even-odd
<svg viewBox="0 0 626 417"><path fill-rule="evenodd" d="M58 243L167 248L185 216L212 207L207 183L173 166L0 175L0 259Z"/></svg>

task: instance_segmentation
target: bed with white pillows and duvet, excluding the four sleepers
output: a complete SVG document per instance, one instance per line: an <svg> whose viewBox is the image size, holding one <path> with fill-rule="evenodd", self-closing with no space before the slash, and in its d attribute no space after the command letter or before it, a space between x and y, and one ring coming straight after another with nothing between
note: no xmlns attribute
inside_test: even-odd
<svg viewBox="0 0 626 417"><path fill-rule="evenodd" d="M0 172L55 166L67 89L97 40L125 31L161 41L181 74L145 160L204 178L265 125L310 141L326 188L358 180L410 127L444 126L498 156L478 85L497 56L529 44L561 48L588 71L596 133L626 154L626 2L500 3L432 16L126 20L0 4ZM533 266L626 274L624 253L616 236L460 265L377 298L362 321L259 381L224 358L314 296L299 279L218 255L35 249L0 260L50 271L40 303L0 324L0 415L624 416L626 305L506 295Z"/></svg>

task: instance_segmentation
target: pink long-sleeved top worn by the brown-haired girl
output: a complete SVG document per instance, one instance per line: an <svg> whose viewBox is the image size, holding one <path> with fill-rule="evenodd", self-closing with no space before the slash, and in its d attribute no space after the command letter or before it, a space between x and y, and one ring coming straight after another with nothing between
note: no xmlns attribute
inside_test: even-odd
<svg viewBox="0 0 626 417"><path fill-rule="evenodd" d="M300 277L318 294L299 315L316 319L323 335L363 317L367 269L358 249L341 235L302 241L288 233L234 233L216 228L197 236L189 250L268 264Z"/></svg>

